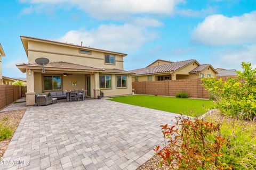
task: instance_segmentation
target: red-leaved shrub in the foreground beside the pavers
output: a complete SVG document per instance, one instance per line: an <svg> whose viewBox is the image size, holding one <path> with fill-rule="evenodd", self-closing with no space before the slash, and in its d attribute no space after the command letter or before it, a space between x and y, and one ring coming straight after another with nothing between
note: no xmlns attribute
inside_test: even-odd
<svg viewBox="0 0 256 170"><path fill-rule="evenodd" d="M195 118L177 117L173 126L162 125L163 149L156 146L169 169L231 169L221 162L221 148L228 144L220 133L220 124Z"/></svg>

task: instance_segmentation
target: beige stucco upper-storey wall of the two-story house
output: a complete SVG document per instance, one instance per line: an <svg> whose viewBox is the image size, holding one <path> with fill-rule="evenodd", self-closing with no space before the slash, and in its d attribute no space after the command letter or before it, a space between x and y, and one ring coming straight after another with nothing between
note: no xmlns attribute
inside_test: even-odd
<svg viewBox="0 0 256 170"><path fill-rule="evenodd" d="M28 41L28 61L35 62L36 58L46 57L50 62L68 62L97 68L123 70L123 57L115 55L115 64L105 64L103 52L92 51L92 54L79 53L78 48Z"/></svg>

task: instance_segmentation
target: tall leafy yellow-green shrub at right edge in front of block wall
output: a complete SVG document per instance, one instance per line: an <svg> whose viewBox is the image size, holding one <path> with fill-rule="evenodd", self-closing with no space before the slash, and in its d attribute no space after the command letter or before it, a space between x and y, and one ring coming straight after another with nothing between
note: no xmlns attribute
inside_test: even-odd
<svg viewBox="0 0 256 170"><path fill-rule="evenodd" d="M222 114L239 115L252 119L256 116L256 69L250 63L242 63L243 71L237 77L202 78L202 86L215 96L215 104Z"/></svg>

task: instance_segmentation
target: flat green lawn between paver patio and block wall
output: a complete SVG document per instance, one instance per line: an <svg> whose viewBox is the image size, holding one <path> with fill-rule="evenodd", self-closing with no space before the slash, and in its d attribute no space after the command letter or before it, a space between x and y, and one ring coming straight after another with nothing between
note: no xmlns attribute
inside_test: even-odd
<svg viewBox="0 0 256 170"><path fill-rule="evenodd" d="M162 96L133 95L113 97L108 100L190 116L202 115L212 107L210 100Z"/></svg>

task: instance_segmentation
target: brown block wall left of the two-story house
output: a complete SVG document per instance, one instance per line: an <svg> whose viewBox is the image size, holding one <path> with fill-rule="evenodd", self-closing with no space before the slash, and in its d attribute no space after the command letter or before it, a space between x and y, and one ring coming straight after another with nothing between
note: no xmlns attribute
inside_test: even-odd
<svg viewBox="0 0 256 170"><path fill-rule="evenodd" d="M0 85L0 109L21 98L22 87L14 85Z"/></svg>

